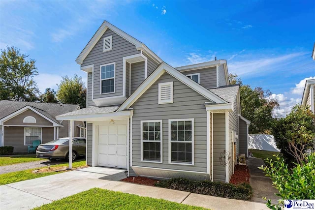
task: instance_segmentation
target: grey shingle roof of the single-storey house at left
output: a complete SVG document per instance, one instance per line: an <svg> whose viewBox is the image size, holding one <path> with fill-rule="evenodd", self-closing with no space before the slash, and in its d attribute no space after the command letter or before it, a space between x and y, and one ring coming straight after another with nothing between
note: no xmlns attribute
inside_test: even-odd
<svg viewBox="0 0 315 210"><path fill-rule="evenodd" d="M40 112L47 118L57 122L56 116L77 110L79 105L75 104L53 104L53 103L38 103L26 101L0 101L0 119L22 109L23 107L31 106L36 111Z"/></svg>

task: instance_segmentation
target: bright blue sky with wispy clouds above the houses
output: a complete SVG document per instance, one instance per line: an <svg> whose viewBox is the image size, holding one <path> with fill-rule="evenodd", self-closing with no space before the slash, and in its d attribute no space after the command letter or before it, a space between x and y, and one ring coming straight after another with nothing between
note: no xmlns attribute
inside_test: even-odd
<svg viewBox="0 0 315 210"><path fill-rule="evenodd" d="M80 71L75 59L107 20L174 67L225 59L245 84L271 90L285 112L315 77L315 2L2 0L0 48L36 60L41 91Z"/></svg>

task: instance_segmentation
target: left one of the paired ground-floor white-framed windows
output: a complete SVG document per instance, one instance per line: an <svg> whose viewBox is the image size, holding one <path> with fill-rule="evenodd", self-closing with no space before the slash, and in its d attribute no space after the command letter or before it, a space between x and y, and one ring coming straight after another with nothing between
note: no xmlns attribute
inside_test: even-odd
<svg viewBox="0 0 315 210"><path fill-rule="evenodd" d="M141 121L141 161L162 163L162 120Z"/></svg>

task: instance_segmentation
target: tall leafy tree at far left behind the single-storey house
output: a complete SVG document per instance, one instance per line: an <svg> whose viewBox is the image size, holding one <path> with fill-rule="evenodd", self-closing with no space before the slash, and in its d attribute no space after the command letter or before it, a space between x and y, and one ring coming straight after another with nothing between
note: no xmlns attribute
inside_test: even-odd
<svg viewBox="0 0 315 210"><path fill-rule="evenodd" d="M15 47L1 50L0 100L38 101L39 90L33 77L38 75L35 60Z"/></svg>

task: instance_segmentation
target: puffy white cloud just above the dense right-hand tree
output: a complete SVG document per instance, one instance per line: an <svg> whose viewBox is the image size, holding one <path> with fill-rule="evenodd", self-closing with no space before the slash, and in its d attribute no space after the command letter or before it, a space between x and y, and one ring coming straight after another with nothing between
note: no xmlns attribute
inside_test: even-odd
<svg viewBox="0 0 315 210"><path fill-rule="evenodd" d="M276 99L279 103L279 108L274 110L275 117L284 117L291 112L293 106L301 103L301 98L292 98L284 94L271 94L269 99Z"/></svg>

